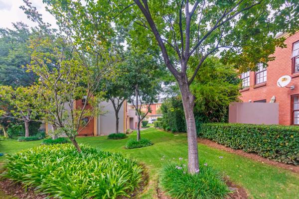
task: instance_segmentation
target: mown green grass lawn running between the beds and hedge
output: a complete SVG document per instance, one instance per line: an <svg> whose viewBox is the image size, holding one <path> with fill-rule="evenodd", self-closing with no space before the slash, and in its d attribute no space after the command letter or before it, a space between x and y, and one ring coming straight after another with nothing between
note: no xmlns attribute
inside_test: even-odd
<svg viewBox="0 0 299 199"><path fill-rule="evenodd" d="M186 134L172 134L148 128L141 132L142 137L149 138L154 144L139 149L125 149L128 139L135 138L136 133L123 140L107 140L107 136L80 137L80 143L89 144L102 150L123 152L145 163L149 168L149 186L141 196L143 199L153 198L157 172L161 165L169 160L187 158ZM37 146L41 141L17 142L4 140L0 152L14 153L22 149ZM231 181L243 186L254 199L299 199L299 175L290 171L268 166L235 154L205 145L198 145L199 159L229 176ZM219 158L220 157L220 158ZM5 158L0 157L0 162ZM1 197L1 194L0 194Z"/></svg>

